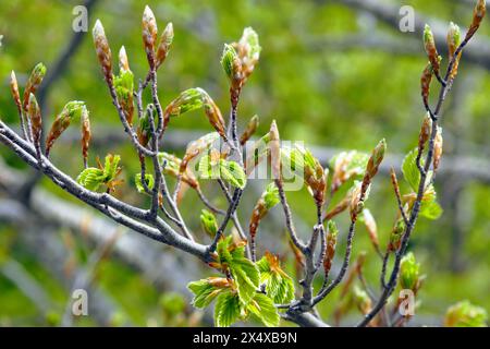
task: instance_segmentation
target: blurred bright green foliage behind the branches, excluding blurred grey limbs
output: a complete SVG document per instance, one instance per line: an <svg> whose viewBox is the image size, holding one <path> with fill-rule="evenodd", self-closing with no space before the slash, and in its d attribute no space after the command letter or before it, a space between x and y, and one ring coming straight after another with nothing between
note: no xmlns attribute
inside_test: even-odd
<svg viewBox="0 0 490 349"><path fill-rule="evenodd" d="M400 3L394 0L391 2ZM305 140L309 145L368 152L382 137L387 139L389 153L407 153L416 145L424 116L419 97L419 74L427 61L421 40L419 53L414 56L383 49L336 47L331 44L346 36L366 33L381 33L403 43L409 34L396 33L371 15L364 12L359 14L336 1L303 1L299 4L297 1L283 0L147 0L147 3L157 16L159 29L163 29L171 21L175 32L171 52L159 71L159 93L163 105L182 91L199 86L209 93L223 115L226 115L228 81L220 67L220 55L224 43L236 40L244 27L252 26L260 36L262 51L259 65L244 88L240 104L238 120L242 129L257 113L260 117L259 135L268 130L272 119L277 119L282 139ZM2 120L17 122L15 106L8 93L10 71L15 70L22 86L37 62L44 62L49 71L73 35L72 9L76 4L79 1L1 1ZM448 23L453 20L461 25L469 21L471 13L471 7L462 5L458 1L416 0L404 1L403 4L412 4L425 15ZM135 0L99 1L89 16L90 28L97 17L102 21L113 57L121 45L125 46L131 69L136 76L144 76L147 71L140 38L143 8L144 3ZM479 35L490 33L489 22L486 21ZM73 57L65 74L50 89L47 101L49 115L54 116L61 111L66 101L79 99L86 101L90 110L94 134L107 124L123 132L108 96L89 36L88 34L79 51ZM488 71L465 62L464 57L460 74L454 94L458 95L463 106L456 109L457 112L446 107L448 112L443 118L446 132L445 155L458 153L488 157L490 75ZM458 87L463 83L464 88ZM149 101L149 95L144 97ZM455 98L451 96L446 106L454 104ZM173 119L168 132L172 128L210 129L198 111ZM53 161L76 177L82 170L78 142L61 148L54 145ZM76 156L69 156L72 153ZM93 149L90 166L96 166L97 155L102 158L108 153L121 154L122 177L127 184L117 195L142 203L144 198L134 190L133 177L137 172L138 161L131 145L106 144ZM24 167L3 147L0 147L0 155L10 165ZM47 180L42 180L41 185L63 198L74 201ZM408 190L404 188L404 183L401 185L402 190ZM444 185L451 185L451 182L444 182ZM439 191L443 190L440 182L437 186ZM206 191L210 189L206 186ZM256 193L249 201L255 202L259 195ZM306 190L289 193L289 196L295 216L310 225L315 214ZM342 197L342 193L338 196ZM419 299L422 303L419 313L427 316L431 324L441 324L448 305L461 299L469 299L483 309L490 309L489 197L489 186L475 182L465 188L460 198L461 212L457 212L457 216L464 217L462 233L465 244L460 249L452 249L453 224L456 219L454 213L443 214L437 221L418 221L411 249L427 274L427 280L420 290ZM247 202L246 197L244 200ZM200 232L200 210L195 210L193 201L194 193L189 193L181 206L184 216L191 220L191 228ZM443 206L450 204L443 200L441 203ZM242 206L241 217L245 222L250 217L253 203ZM381 246L385 246L396 215L395 198L387 178L376 179L368 207L377 218ZM339 219L339 224L342 227L339 251L343 251L345 217ZM272 226L265 225L260 234L269 231L275 233L280 243L274 252L281 255L290 253L287 241L284 236L280 236L281 231L269 230L267 227L270 229ZM8 257L20 261L36 280L42 282L54 305L48 314L40 316L33 303L0 274L0 325L56 325L63 314L69 294L22 245L19 234L22 231L15 231L0 220L0 263ZM260 244L260 237L258 239ZM76 245L85 254L94 249L84 241L77 241ZM356 256L360 251L370 251L364 268L366 278L376 282L372 286L377 287L380 263L370 249L368 233L358 225L353 253ZM464 268L460 273L450 268L454 251L458 251L464 261ZM164 253L171 252L166 250ZM294 270L292 261L287 267ZM152 285L121 261L110 258L103 262L97 281L121 306L121 312L113 315L113 325L124 324L126 320L136 325L188 325L192 321L199 323L199 315L192 314L192 309L188 308L189 294L185 294L186 301L182 302L180 294L170 293L171 285L168 287L169 293L158 294ZM329 301L321 303L322 313L331 314L335 306L333 300L339 291L335 290ZM187 314L187 320L179 315L180 311ZM353 314L359 316L358 312ZM84 321L79 325L94 323Z"/></svg>

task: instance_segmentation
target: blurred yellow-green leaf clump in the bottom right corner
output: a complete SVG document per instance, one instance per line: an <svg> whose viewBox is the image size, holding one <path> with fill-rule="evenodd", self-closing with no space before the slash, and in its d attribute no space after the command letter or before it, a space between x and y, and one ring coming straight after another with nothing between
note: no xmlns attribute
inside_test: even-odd
<svg viewBox="0 0 490 349"><path fill-rule="evenodd" d="M445 327L487 327L487 311L465 300L448 309Z"/></svg>

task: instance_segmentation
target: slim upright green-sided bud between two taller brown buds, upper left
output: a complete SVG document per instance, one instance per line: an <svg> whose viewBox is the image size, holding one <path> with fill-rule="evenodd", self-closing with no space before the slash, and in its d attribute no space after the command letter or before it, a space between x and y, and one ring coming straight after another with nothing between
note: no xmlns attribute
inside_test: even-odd
<svg viewBox="0 0 490 349"><path fill-rule="evenodd" d="M124 46L119 51L119 75L114 76L114 88L119 105L124 112L125 119L130 125L133 125L134 116L134 75L130 69L126 49Z"/></svg>

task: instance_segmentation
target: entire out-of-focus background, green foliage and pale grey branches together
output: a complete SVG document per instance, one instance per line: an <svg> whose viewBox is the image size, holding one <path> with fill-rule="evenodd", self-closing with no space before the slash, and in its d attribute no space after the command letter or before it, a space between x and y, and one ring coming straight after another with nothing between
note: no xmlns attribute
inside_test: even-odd
<svg viewBox="0 0 490 349"><path fill-rule="evenodd" d="M133 72L144 76L147 63L140 17L146 3L160 29L170 21L174 25L171 53L159 71L163 104L181 91L200 86L226 113L221 50L224 43L237 40L244 27L253 26L262 51L242 94L242 128L257 113L257 134L261 135L275 119L283 139L305 141L324 160L342 149L369 152L385 137L390 160L399 168L403 154L416 145L424 117L419 76L427 58L421 25L432 25L442 48L449 21L466 27L473 11L473 1L463 0L91 0L89 33L76 35L72 10L82 1L1 1L1 119L17 124L9 92L10 71L15 70L23 85L32 68L44 62L51 80L40 97L45 118L54 116L69 100L85 100L94 134L90 164L97 155L121 154L126 183L117 195L140 205L146 200L132 182L138 161L123 137L101 79L90 31L100 19L112 51L124 45ZM399 29L402 4L415 9L415 33ZM414 324L441 324L448 306L464 299L490 310L489 36L487 17L463 56L460 76L444 106L445 157L436 184L444 213L434 221L419 219L412 239L411 250L427 276ZM198 112L175 119L167 133L166 149L182 155L188 141L209 130ZM73 177L82 169L78 147L74 131L52 152L53 163ZM209 268L118 228L46 179L35 180L35 173L4 146L0 146L0 325L212 324L210 313L195 312L188 305L191 294L185 289L188 281L208 275ZM368 207L385 245L396 215L395 197L385 172L375 184ZM218 205L224 204L217 188L206 186L206 192ZM260 185L255 185L244 197L243 222L247 224L259 194ZM311 226L315 213L308 193L289 195L298 226ZM203 207L194 193L184 197L181 207L191 228L205 240L198 221ZM346 228L345 218L339 219L341 230ZM259 251L281 254L293 273L283 228L277 209L264 222ZM378 290L380 261L359 225L354 257L362 251L368 252L366 278ZM88 290L89 316L70 315L71 292L76 288ZM338 297L332 293L320 306L327 321ZM352 310L345 324L359 316Z"/></svg>

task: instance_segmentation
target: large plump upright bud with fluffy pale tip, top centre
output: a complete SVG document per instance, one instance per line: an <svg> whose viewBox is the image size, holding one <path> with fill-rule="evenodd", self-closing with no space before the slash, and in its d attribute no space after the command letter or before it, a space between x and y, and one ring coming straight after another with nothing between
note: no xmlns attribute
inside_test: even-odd
<svg viewBox="0 0 490 349"><path fill-rule="evenodd" d="M242 86L258 63L260 50L258 35L250 27L243 31L238 43L224 45L221 65L230 80L230 95L233 106L238 103Z"/></svg>

